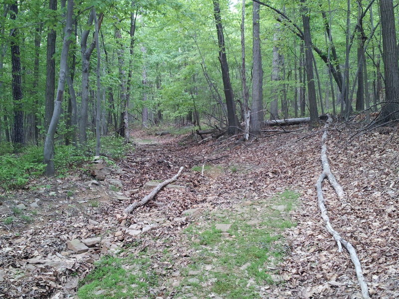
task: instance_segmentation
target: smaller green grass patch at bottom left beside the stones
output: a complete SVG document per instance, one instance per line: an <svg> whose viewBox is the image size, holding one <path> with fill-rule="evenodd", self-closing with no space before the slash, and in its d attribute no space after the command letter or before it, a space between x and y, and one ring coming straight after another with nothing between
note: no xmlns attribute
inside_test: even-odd
<svg viewBox="0 0 399 299"><path fill-rule="evenodd" d="M104 257L80 282L77 296L79 299L146 297L150 288L158 285L158 276L150 271L150 263L149 259L134 257Z"/></svg>

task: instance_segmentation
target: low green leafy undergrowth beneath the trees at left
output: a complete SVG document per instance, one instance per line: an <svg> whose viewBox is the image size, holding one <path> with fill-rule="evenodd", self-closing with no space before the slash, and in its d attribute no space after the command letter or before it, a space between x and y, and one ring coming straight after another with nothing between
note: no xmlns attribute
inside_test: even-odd
<svg viewBox="0 0 399 299"><path fill-rule="evenodd" d="M101 154L111 159L122 159L127 152L123 139L117 137L101 138ZM94 155L95 140L86 147L56 145L54 165L57 175L63 175L71 169L80 167ZM11 144L0 144L0 187L15 189L25 186L31 179L44 173L43 147L27 146L13 153Z"/></svg>

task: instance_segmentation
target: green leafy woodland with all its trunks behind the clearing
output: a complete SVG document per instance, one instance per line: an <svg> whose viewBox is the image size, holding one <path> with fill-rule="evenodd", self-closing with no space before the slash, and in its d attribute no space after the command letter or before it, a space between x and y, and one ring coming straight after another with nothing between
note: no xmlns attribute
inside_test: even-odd
<svg viewBox="0 0 399 299"><path fill-rule="evenodd" d="M98 154L100 135L127 141L135 124L247 139L267 119L396 121L393 2L3 1L3 153L44 146L53 174L54 147L84 154L97 135Z"/></svg>

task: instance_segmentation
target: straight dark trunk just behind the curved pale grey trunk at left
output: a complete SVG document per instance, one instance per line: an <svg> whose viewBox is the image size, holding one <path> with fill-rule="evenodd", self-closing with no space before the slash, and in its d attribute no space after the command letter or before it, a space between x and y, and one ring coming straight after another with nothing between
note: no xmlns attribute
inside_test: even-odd
<svg viewBox="0 0 399 299"><path fill-rule="evenodd" d="M48 8L57 10L57 0L49 0ZM54 27L55 24L52 24ZM55 42L57 32L49 28L47 33L47 54L46 54L46 106L44 112L44 130L47 131L54 111L54 93L55 93Z"/></svg>

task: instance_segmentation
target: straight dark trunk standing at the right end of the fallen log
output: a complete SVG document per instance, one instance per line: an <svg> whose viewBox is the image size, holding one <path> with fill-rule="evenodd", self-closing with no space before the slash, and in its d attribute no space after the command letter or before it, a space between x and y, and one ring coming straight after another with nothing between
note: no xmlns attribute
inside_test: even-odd
<svg viewBox="0 0 399 299"><path fill-rule="evenodd" d="M310 35L310 22L309 22L309 8L305 5L305 0L301 0L302 6L302 22L303 34L305 39L305 56L306 56L306 75L308 82L308 99L310 111L310 123L316 124L318 122L317 102L316 102L316 88L313 76L313 54L312 54L312 39Z"/></svg>

